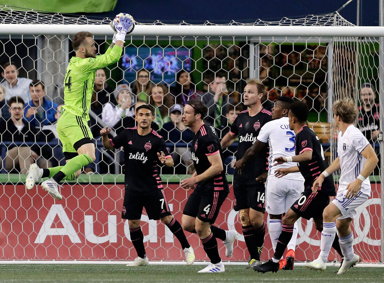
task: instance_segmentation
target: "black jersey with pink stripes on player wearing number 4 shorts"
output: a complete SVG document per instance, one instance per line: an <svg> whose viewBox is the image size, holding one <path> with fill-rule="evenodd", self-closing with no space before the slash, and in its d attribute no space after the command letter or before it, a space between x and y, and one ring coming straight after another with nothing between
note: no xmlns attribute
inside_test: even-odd
<svg viewBox="0 0 384 283"><path fill-rule="evenodd" d="M203 124L192 140L192 160L196 173L202 174L210 166L208 156L219 153L223 160L223 152L214 127ZM224 170L216 176L197 184L197 190L204 191L226 191L229 192L227 178Z"/></svg>

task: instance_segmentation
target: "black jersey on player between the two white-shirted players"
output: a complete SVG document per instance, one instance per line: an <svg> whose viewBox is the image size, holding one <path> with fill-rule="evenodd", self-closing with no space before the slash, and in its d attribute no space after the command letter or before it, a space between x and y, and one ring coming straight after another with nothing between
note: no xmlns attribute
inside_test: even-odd
<svg viewBox="0 0 384 283"><path fill-rule="evenodd" d="M318 136L305 125L296 134L295 153L299 155L306 150L312 151L312 159L310 161L299 162L298 165L300 173L305 179L305 189L311 190L314 180L328 167L328 162L325 159L323 146L321 146ZM324 179L319 191L328 194L328 196L336 196L332 175Z"/></svg>

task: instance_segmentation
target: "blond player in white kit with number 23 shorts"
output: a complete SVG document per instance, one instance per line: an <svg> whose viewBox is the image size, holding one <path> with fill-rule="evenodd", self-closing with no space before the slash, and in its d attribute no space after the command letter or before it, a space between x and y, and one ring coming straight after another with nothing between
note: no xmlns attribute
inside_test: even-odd
<svg viewBox="0 0 384 283"><path fill-rule="evenodd" d="M344 261L338 274L344 274L353 267L360 258L353 251L352 219L356 216L356 208L367 201L371 195L371 184L368 176L376 167L376 153L368 140L354 127L358 117L358 110L352 100L338 100L332 107L335 125L340 129L338 135L338 158L320 174L313 183L313 191L329 174L341 169L339 189L336 198L324 209L323 232L321 233L321 252L319 257L306 267L324 270L336 227L339 234L339 243L343 251ZM337 219L337 220L336 220ZM335 221L336 220L336 224Z"/></svg>

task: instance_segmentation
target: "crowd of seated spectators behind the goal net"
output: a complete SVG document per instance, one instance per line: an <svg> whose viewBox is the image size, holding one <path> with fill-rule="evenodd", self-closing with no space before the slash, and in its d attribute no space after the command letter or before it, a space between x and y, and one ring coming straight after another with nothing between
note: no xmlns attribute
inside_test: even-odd
<svg viewBox="0 0 384 283"><path fill-rule="evenodd" d="M44 82L19 77L18 66L14 63L8 62L2 67L0 131L2 146L7 146L7 153L2 156L3 169L11 173L26 173L33 162L37 162L40 168L63 165L65 160L56 131L63 105L56 104L46 95ZM106 83L108 78L104 69L97 70L89 115L93 137L97 140L103 127L112 128L114 134L134 127L136 107L151 104L155 108L151 127L166 140L177 165L162 173L191 174L194 168L187 145L192 141L193 132L182 122L184 105L190 99L202 100L208 107L205 122L217 129L219 137L228 132L237 114L245 109L240 94L228 92L226 72L205 76L204 92L197 89L193 76L185 70L177 72L175 78L176 83L172 87L163 83L154 84L150 72L141 69L131 85L118 84L115 87ZM280 95L304 100L310 109L316 111L324 109L326 100L326 93L319 92L319 89L295 92L295 89L285 87L268 90L263 97L263 107L271 110ZM374 143L380 132L376 90L372 84L365 83L361 86L360 95L358 127ZM224 153L228 174L233 174L231 165L235 151L233 147ZM116 155L101 148L100 153L102 157L96 161L99 168L89 165L84 168L85 173L115 173L112 168ZM117 158L121 156L117 155Z"/></svg>

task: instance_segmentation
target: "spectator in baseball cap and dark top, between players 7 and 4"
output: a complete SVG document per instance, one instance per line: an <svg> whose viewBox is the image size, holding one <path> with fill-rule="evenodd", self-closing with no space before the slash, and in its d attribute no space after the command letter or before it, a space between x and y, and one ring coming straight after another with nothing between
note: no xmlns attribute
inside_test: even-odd
<svg viewBox="0 0 384 283"><path fill-rule="evenodd" d="M174 146L174 151L170 148L172 158L175 161L175 164L180 162L180 158L187 167L187 173L192 174L194 172L194 166L192 161L192 154L187 148L187 144L192 142L194 133L187 127L185 127L182 120L182 106L180 104L175 104L170 108L170 122L167 122L163 125L160 130L160 135L166 140L166 142L172 142L175 145L177 143L185 143L185 146ZM177 172L180 174L185 174L184 172Z"/></svg>

